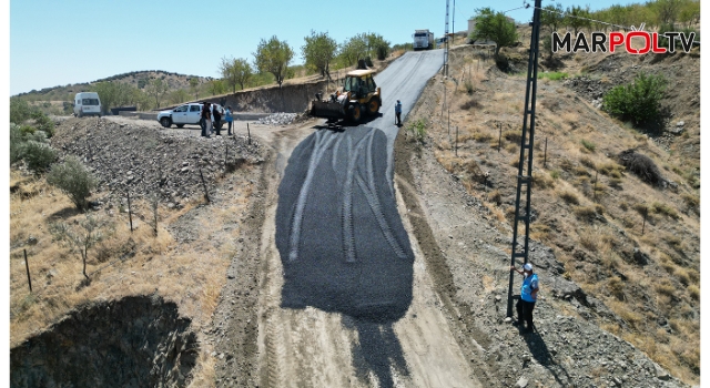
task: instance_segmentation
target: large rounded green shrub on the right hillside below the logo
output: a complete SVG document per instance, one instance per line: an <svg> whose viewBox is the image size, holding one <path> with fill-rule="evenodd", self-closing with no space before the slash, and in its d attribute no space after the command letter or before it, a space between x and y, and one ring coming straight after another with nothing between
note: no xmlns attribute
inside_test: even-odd
<svg viewBox="0 0 710 388"><path fill-rule="evenodd" d="M663 75L639 73L633 83L619 85L604 96L604 109L621 120L643 123L658 118L660 101L666 91Z"/></svg>

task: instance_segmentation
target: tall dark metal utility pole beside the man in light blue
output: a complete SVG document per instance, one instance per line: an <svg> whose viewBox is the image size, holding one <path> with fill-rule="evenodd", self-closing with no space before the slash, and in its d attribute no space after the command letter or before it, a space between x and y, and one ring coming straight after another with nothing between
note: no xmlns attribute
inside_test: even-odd
<svg viewBox="0 0 710 388"><path fill-rule="evenodd" d="M510 265L515 265L516 257L528 262L528 248L530 237L530 188L532 186L532 150L535 140L535 96L537 93L537 61L540 42L540 8L541 0L535 0L532 13L532 33L530 34L530 55L528 59L528 78L525 86L525 111L523 112L523 136L520 137L520 162L518 163L518 187L515 198L515 217L513 218L513 249ZM529 122L529 127L528 127ZM529 132L528 132L529 130ZM526 167L527 166L527 167ZM524 188L525 187L525 188ZM524 193L525 190L525 193ZM520 196L525 194L525 204L520 204ZM521 208L523 207L523 208ZM525 237L521 251L518 248L518 222L525 222ZM508 284L508 312L513 316L513 276Z"/></svg>

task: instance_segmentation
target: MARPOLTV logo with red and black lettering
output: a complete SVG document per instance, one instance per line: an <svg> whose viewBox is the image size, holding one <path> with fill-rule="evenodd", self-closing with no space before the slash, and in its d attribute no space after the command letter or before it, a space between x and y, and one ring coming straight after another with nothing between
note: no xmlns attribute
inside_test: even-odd
<svg viewBox="0 0 710 388"><path fill-rule="evenodd" d="M659 45L659 38L668 38L668 49ZM570 32L565 33L560 38L559 33L552 32L552 52L565 50L566 52L616 52L626 50L626 52L635 55L647 54L653 52L662 54L666 52L676 52L677 43L680 40L680 47L684 52L689 52L696 40L696 33L684 34L682 32L658 32L630 31L630 32L592 32L591 39L587 39L584 32L577 34L577 39L572 40ZM574 41L574 44L572 44ZM635 48L631 43L643 43L642 48Z"/></svg>

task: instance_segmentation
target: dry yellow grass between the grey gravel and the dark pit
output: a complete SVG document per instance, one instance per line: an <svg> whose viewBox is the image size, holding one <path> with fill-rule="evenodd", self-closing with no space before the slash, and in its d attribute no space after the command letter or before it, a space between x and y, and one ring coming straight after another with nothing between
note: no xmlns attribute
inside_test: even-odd
<svg viewBox="0 0 710 388"><path fill-rule="evenodd" d="M91 283L78 287L81 275L81 259L69 252L67 246L52 241L49 232L51 222L73 223L84 217L73 211L70 201L42 181L26 178L11 172L12 184L23 191L38 194L23 200L22 195L10 198L10 343L16 346L29 336L48 327L67 312L83 303L99 299L118 299L130 295L155 293L166 300L178 304L180 314L192 319L192 329L202 336L200 328L210 325L220 292L225 284L224 273L234 254L227 242L239 234L239 227L229 232L230 236L215 236L223 225L234 224L248 203L252 184L243 182L239 194L223 207L214 206L214 212L203 215L199 223L196 238L192 244L180 244L165 226L190 212L195 203L184 208L170 211L160 207L159 233L154 236L150 225L150 205L134 202L133 233L128 225L128 214L113 207L92 212L92 216L112 221L115 232L102 244L89 251L87 273ZM206 213L205 213L206 214ZM37 238L36 245L27 245L29 236ZM215 242L220 242L216 243ZM22 249L28 249L33 294L29 293ZM132 251L132 255L121 255ZM214 360L211 347L202 343L197 369L194 370L193 387L210 385L214 378ZM204 382L204 384L203 384Z"/></svg>

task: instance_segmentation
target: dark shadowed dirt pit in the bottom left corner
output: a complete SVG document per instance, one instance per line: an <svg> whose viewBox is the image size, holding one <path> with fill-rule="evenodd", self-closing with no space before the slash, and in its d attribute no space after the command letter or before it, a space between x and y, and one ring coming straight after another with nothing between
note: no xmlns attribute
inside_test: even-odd
<svg viewBox="0 0 710 388"><path fill-rule="evenodd" d="M199 354L190 324L161 297L90 304L10 349L10 386L184 387Z"/></svg>

